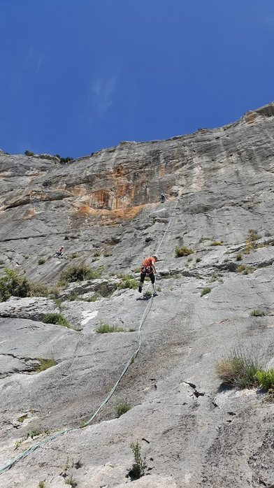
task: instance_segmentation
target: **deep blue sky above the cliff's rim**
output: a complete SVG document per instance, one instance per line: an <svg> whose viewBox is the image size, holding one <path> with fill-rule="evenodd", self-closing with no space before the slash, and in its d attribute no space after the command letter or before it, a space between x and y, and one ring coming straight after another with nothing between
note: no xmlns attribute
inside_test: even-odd
<svg viewBox="0 0 274 488"><path fill-rule="evenodd" d="M0 0L0 148L80 157L274 99L273 0Z"/></svg>

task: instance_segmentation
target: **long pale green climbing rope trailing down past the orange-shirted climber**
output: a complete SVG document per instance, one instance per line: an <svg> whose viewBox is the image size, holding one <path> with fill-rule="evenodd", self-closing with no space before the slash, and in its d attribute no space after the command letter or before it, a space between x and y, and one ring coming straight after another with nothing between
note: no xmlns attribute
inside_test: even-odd
<svg viewBox="0 0 274 488"><path fill-rule="evenodd" d="M171 225L171 220L173 219L173 215L175 213L175 208L177 207L178 199L179 199L179 196L178 196L178 198L175 201L175 205L174 205L173 211L171 213L171 218L170 218L170 220L168 222L168 226L166 227L166 231L164 232L164 236L161 239L161 242L159 243L159 246L157 247L156 254L158 254L159 249L161 247L161 243L163 243L164 238L166 236L166 233L167 233L167 231L168 231L168 229L169 229L169 227ZM115 389L119 385L119 383L122 380L122 377L124 376L124 374L127 372L127 369L132 364L132 362L134 361L134 359L137 357L138 352L140 351L140 345L142 343L142 339L141 339L140 332L142 330L142 327L143 327L143 324L145 322L145 319L147 318L147 315L150 313L150 309L152 307L152 301L153 301L154 293L155 293L155 290L156 290L156 280L157 280L157 273L155 274L155 281L154 281L154 287L153 287L152 296L150 297L150 300L147 302L147 306L145 307L144 313L142 315L142 318L140 320L140 324L139 324L139 327L138 327L138 333L137 333L138 347L137 347L136 351L133 354L131 354L131 357L129 358L129 361L127 361L127 364L124 366L124 369L123 369L122 373L120 374L120 377L118 378L117 382L115 383L115 385L113 386L113 388L110 390L110 393L108 394L108 396L106 397L106 399L101 403L101 405L99 406L99 408L97 408L96 412L94 412L94 414L92 415L92 417L90 417L90 419L87 420L87 422L85 422L85 424L83 424L81 426L68 427L67 429L64 429L62 431L59 431L59 432L55 433L53 436L50 436L50 437L48 437L48 438L46 438L44 440L41 440L40 443L38 443L38 444L36 444L36 445L34 445L32 447L29 447L29 449L27 449L26 451L22 452L22 454L20 454L20 456L18 456L15 459L13 459L13 461L10 461L10 463L6 464L6 466L3 466L3 468L0 468L0 475L2 475L4 473L4 471L12 468L18 461L20 461L21 459L23 459L24 457L26 457L28 454L31 454L31 452L34 452L41 445L43 445L45 443L48 443L48 442L50 442L50 440L56 439L59 436L62 436L66 432L71 432L71 431L74 431L76 429L82 429L85 426L89 425L90 422L92 422L92 420L96 417L96 415L103 408L103 406L106 405L106 403L108 402L108 400L110 400L111 396L113 396L113 393L115 392Z"/></svg>

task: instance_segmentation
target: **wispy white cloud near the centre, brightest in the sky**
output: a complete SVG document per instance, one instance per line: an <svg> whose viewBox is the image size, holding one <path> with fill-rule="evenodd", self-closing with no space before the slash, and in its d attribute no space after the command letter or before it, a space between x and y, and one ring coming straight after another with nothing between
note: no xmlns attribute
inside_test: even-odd
<svg viewBox="0 0 274 488"><path fill-rule="evenodd" d="M109 78L96 78L92 81L87 97L88 105L92 104L97 115L103 115L113 104L118 76Z"/></svg>

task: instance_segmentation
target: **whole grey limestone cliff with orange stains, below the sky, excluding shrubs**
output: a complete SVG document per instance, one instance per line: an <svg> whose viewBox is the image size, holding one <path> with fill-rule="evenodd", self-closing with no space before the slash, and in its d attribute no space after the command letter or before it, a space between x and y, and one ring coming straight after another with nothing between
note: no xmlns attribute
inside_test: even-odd
<svg viewBox="0 0 274 488"><path fill-rule="evenodd" d="M148 303L120 289L118 275L158 247L161 289L138 356L94 421L39 447L1 486L58 488L72 475L81 488L124 488L136 440L147 457L136 488L274 482L274 403L261 389L224 389L215 373L235 350L274 365L273 129L271 103L219 129L124 142L66 165L0 152L1 269L55 285L72 265L103 266L101 279L60 292L61 310L54 297L0 303L0 468L80 426L106 399L136 351ZM250 229L259 238L245 254ZM53 258L60 245L64 256ZM177 258L183 245L194 253ZM251 317L254 309L266 315ZM60 311L73 329L41 322ZM96 333L102 323L124 332ZM56 366L37 373L50 357ZM117 418L125 401L131 410ZM42 433L27 438L34 431Z"/></svg>

